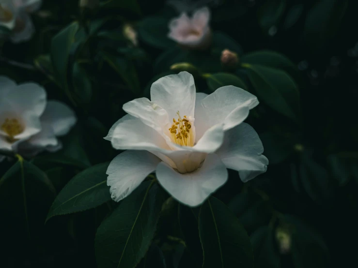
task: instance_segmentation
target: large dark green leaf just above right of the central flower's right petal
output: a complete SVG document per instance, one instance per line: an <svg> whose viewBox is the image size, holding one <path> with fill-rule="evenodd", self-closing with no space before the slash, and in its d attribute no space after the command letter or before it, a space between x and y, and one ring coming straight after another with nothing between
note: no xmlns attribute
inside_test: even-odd
<svg viewBox="0 0 358 268"><path fill-rule="evenodd" d="M286 72L278 69L251 64L243 66L249 69L248 76L259 100L300 123L299 91L295 81Z"/></svg>

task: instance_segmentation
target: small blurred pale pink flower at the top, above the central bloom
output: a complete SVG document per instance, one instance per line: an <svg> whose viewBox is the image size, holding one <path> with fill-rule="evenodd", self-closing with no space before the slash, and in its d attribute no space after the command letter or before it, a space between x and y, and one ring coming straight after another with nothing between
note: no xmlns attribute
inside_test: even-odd
<svg viewBox="0 0 358 268"><path fill-rule="evenodd" d="M184 12L169 23L168 37L187 48L205 49L211 44L210 11L203 7L191 18Z"/></svg>

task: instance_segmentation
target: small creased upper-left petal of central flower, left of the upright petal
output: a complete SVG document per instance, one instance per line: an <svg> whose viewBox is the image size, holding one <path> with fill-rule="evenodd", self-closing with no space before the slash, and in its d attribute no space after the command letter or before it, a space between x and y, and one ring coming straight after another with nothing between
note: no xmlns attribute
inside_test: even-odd
<svg viewBox="0 0 358 268"><path fill-rule="evenodd" d="M124 104L123 110L158 132L162 132L169 124L167 111L147 98L135 99Z"/></svg>

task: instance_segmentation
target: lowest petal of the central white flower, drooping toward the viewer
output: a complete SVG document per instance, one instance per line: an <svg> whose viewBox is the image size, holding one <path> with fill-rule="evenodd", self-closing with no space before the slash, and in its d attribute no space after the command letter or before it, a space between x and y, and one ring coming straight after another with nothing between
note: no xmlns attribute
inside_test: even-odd
<svg viewBox="0 0 358 268"><path fill-rule="evenodd" d="M209 154L202 167L191 173L180 174L163 162L156 167L156 177L164 189L191 207L202 204L226 182L227 176L225 165L215 154Z"/></svg>

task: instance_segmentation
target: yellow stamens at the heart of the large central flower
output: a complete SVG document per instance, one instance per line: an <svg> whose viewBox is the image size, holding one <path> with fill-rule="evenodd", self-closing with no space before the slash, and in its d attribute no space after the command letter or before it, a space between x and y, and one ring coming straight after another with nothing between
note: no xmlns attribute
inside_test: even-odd
<svg viewBox="0 0 358 268"><path fill-rule="evenodd" d="M193 147L195 140L193 130L191 129L191 122L187 119L187 116L184 116L182 119L179 111L176 114L178 115L178 119L175 120L173 118L173 124L169 129L172 142L180 146Z"/></svg>

